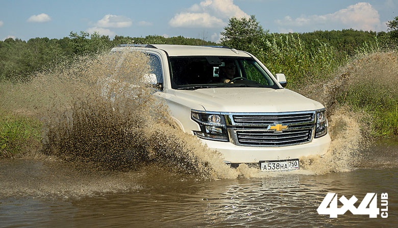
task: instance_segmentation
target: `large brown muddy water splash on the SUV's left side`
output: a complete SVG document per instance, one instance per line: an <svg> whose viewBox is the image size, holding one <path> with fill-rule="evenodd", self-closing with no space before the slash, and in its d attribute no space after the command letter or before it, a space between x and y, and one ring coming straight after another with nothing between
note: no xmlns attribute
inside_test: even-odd
<svg viewBox="0 0 398 228"><path fill-rule="evenodd" d="M236 178L218 153L176 128L167 107L142 82L146 61L141 53L104 55L67 73L70 99L48 111L45 153L96 169L157 164L201 178Z"/></svg>

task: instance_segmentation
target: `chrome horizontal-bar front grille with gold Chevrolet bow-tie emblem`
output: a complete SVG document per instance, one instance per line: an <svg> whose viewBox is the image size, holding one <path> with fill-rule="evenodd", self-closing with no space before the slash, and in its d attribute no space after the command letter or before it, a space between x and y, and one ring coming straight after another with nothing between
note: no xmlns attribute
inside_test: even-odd
<svg viewBox="0 0 398 228"><path fill-rule="evenodd" d="M312 140L315 129L315 112L233 113L226 119L231 141L242 146L303 144Z"/></svg>

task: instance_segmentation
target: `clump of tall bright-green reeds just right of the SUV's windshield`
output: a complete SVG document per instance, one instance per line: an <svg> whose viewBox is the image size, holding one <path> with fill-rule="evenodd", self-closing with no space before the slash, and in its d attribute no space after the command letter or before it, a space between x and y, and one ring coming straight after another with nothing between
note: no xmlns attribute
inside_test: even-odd
<svg viewBox="0 0 398 228"><path fill-rule="evenodd" d="M291 89L327 79L347 59L327 43L305 43L295 35L264 39L260 49L259 59L272 73L285 73Z"/></svg>

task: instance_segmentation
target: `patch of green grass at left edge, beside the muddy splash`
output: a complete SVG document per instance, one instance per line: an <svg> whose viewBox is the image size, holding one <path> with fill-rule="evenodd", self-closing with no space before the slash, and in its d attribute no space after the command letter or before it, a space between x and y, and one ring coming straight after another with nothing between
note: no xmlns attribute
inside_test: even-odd
<svg viewBox="0 0 398 228"><path fill-rule="evenodd" d="M36 119L0 112L0 158L14 157L39 142L41 126Z"/></svg>

